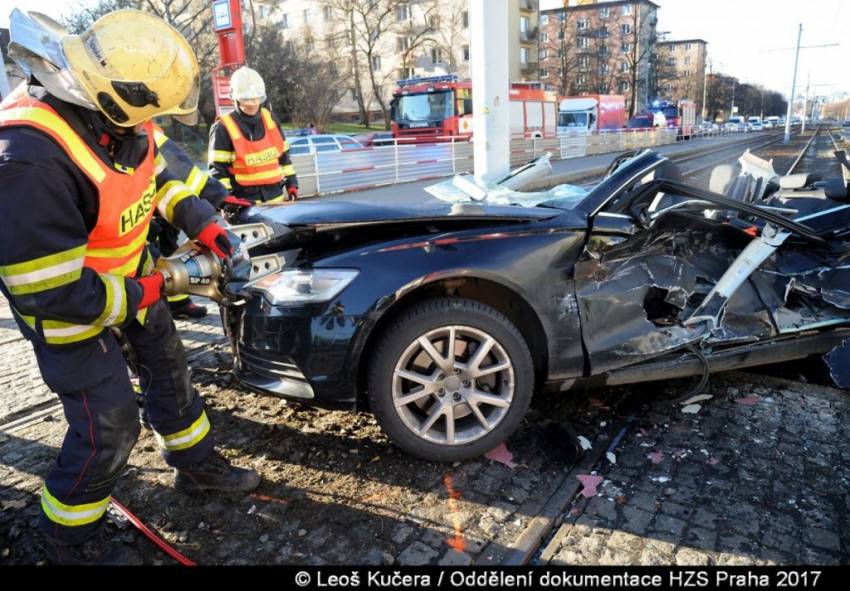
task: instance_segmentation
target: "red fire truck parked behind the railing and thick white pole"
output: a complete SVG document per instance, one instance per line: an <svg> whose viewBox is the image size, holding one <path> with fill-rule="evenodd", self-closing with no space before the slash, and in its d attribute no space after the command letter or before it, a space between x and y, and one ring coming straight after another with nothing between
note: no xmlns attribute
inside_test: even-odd
<svg viewBox="0 0 850 591"><path fill-rule="evenodd" d="M454 74L396 82L393 137L410 143L472 137L472 82ZM514 82L510 88L514 138L551 137L558 129L558 99L539 82Z"/></svg>

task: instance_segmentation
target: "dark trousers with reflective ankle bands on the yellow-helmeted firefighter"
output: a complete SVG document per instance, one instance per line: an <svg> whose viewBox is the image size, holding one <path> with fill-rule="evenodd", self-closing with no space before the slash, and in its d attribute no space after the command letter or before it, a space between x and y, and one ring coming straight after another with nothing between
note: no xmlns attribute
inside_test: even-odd
<svg viewBox="0 0 850 591"><path fill-rule="evenodd" d="M124 329L145 398L144 416L165 461L184 468L213 448L204 401L192 388L183 344L164 300ZM115 335L69 347L35 345L45 383L59 395L68 430L41 498L40 527L76 544L102 523L117 479L139 437L139 408Z"/></svg>

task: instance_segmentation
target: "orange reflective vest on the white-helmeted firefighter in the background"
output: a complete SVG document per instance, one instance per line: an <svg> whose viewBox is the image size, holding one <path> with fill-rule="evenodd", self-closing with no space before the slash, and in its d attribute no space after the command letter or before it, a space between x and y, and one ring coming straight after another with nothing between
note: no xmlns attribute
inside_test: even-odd
<svg viewBox="0 0 850 591"><path fill-rule="evenodd" d="M262 139L254 141L242 134L233 113L221 118L236 153L228 171L233 175L233 180L243 187L274 185L282 182L284 178L278 161L287 150L286 139L267 109L261 109L260 114L266 126L266 133Z"/></svg>

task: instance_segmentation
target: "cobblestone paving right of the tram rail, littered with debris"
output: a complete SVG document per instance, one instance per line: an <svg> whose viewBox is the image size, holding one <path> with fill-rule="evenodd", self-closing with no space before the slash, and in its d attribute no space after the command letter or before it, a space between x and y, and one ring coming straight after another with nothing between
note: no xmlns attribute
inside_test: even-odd
<svg viewBox="0 0 850 591"><path fill-rule="evenodd" d="M712 381L696 414L642 409L600 494L571 505L539 561L847 564L846 393L743 373Z"/></svg>

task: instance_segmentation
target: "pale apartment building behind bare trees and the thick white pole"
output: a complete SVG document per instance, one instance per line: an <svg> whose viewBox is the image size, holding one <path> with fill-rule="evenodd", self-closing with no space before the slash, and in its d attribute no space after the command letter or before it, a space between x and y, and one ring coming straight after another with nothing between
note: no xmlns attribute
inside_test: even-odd
<svg viewBox="0 0 850 591"><path fill-rule="evenodd" d="M538 0L509 2L509 72L511 80L536 80ZM352 22L342 8L356 5ZM261 25L278 26L285 43L320 51L339 64L340 80L353 80L354 60L361 77L374 74L388 100L396 80L414 76L470 76L468 0L256 0ZM380 18L379 18L380 17ZM486 67L486 66L485 66ZM371 80L365 94L374 99ZM374 100L370 105L375 109ZM357 111L350 94L334 109Z"/></svg>

